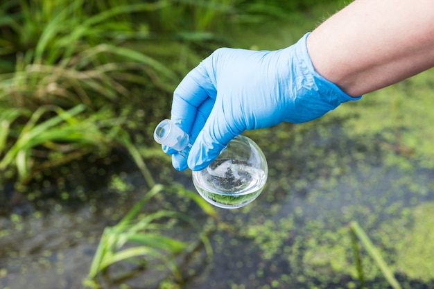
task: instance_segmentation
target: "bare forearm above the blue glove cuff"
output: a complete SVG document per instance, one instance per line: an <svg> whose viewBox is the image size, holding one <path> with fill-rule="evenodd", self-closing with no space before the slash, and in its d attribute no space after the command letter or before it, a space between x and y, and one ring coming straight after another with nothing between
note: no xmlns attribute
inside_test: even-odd
<svg viewBox="0 0 434 289"><path fill-rule="evenodd" d="M434 66L433 0L356 0L307 40L315 69L351 96Z"/></svg>

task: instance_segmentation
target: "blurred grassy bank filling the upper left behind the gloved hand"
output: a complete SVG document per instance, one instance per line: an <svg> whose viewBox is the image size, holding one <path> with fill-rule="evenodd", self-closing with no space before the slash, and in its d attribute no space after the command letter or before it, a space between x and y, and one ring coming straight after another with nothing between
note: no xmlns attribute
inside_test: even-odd
<svg viewBox="0 0 434 289"><path fill-rule="evenodd" d="M45 179L44 170L62 166L49 178L64 177L71 161L117 149L140 148L146 159L171 92L218 46L234 45L228 29L321 2L3 1L1 184L25 191L19 185Z"/></svg>

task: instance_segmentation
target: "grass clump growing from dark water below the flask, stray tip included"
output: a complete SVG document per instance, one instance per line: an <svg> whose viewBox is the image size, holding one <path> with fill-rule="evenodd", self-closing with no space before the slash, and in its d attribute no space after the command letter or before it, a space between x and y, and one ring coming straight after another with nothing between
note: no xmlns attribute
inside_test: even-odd
<svg viewBox="0 0 434 289"><path fill-rule="evenodd" d="M193 252L205 246L205 251L209 258L212 256L212 249L207 234L198 222L184 213L177 211L158 210L154 213L140 213L141 209L150 199L159 193L164 193L164 186L155 185L134 207L113 227L106 227L101 236L98 249L94 255L94 260L89 268L89 275L84 281L86 286L100 288L101 280L97 277L101 274L107 278L107 268L114 263L127 261L137 263L139 272L150 266L150 263L157 260L164 263L166 268L173 274L177 282L182 282L180 268L177 268L175 256L180 253ZM199 202L200 206L207 212L215 215L214 210L209 204ZM183 220L194 227L197 231L196 240L181 241L171 236L164 236L164 231L173 230L173 222L166 220ZM170 225L172 223L172 225ZM153 263L152 266L156 266ZM135 270L128 270L125 273L131 277L137 274ZM125 279L124 274L115 274L111 277L110 283L116 284Z"/></svg>

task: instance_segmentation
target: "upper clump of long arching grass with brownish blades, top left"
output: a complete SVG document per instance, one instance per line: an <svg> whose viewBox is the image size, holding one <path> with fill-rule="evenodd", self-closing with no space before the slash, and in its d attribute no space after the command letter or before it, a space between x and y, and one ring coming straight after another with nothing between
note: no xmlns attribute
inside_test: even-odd
<svg viewBox="0 0 434 289"><path fill-rule="evenodd" d="M143 81L135 71L144 71L146 75L147 67L155 71L150 77L160 87L166 85L159 78L175 83L175 74L170 69L139 51L116 46L111 36L125 30L134 32L114 20L116 15L155 10L161 3L114 6L95 15L80 13L83 5L86 6L83 1L60 2L41 30L31 31L31 35L23 36L21 31L29 32L25 27L17 28L17 35L35 38L35 44L25 51L17 51L13 73L0 75L0 99L9 97L20 106L29 103L95 105L92 96L96 94L109 100L128 96L125 83ZM26 18L23 25L41 26L29 21ZM23 40L17 41L17 45L24 45L20 43Z"/></svg>

